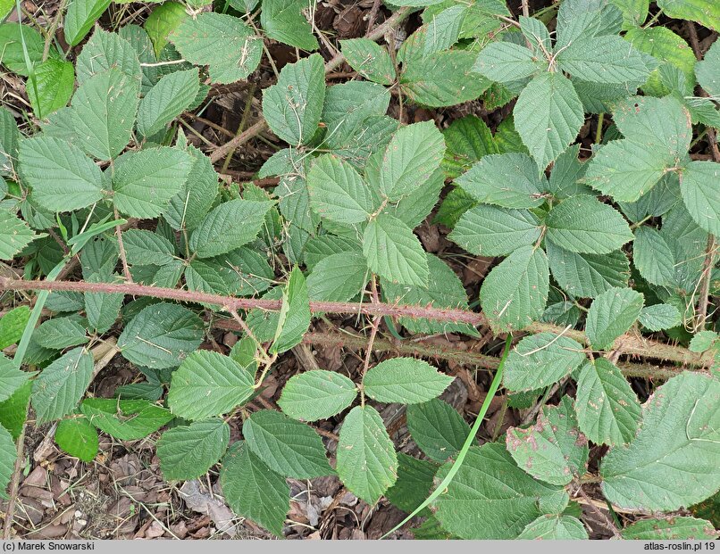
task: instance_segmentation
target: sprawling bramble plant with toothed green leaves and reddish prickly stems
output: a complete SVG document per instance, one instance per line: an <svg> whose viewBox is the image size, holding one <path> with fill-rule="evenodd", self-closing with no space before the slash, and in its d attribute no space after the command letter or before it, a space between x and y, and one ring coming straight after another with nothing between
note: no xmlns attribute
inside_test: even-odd
<svg viewBox="0 0 720 554"><path fill-rule="evenodd" d="M515 4L394 0L375 25L376 1L335 45L304 1L147 3L138 25L71 0L47 29L0 3L32 22L0 24L25 87L0 108L0 496L26 427L56 422L86 462L98 433L151 437L166 481L211 472L278 536L287 479L336 475L417 538L586 539L589 515L716 538L693 507L720 502L720 4ZM216 146L187 120L228 86L247 106L237 132L209 121ZM233 173L255 138L275 152ZM359 364L264 397L332 343ZM141 377L98 398L113 356ZM470 424L442 396L459 366L492 373Z"/></svg>

